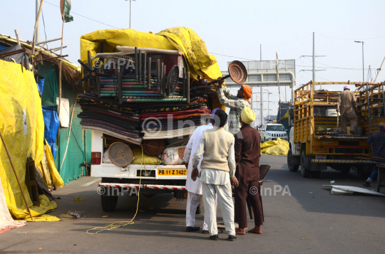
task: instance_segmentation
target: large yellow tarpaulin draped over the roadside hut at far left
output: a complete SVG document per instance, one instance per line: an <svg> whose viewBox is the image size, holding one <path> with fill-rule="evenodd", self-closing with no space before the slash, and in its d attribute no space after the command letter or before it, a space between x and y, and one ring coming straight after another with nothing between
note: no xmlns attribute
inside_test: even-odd
<svg viewBox="0 0 385 254"><path fill-rule="evenodd" d="M39 165L43 157L44 121L34 73L19 64L4 60L0 60L0 131L32 216L39 216L55 209L56 203L50 202L45 195L40 196L39 207L32 206L25 184L26 158L31 155L35 165ZM0 177L9 211L15 218L24 219L29 216L2 143L0 143Z"/></svg>

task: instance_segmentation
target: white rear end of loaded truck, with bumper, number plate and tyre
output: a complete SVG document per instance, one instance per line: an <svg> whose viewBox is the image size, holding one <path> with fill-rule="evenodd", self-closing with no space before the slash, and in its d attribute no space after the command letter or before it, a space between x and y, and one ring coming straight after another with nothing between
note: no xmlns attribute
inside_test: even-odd
<svg viewBox="0 0 385 254"><path fill-rule="evenodd" d="M92 131L91 176L101 177L98 192L101 195L103 211L114 211L118 196L123 196L124 193L129 195L133 189L139 188L140 194L145 196L173 193L177 199L185 198L185 165L130 164L121 167L104 163L102 157L106 151L105 136L103 132ZM197 213L200 213L200 206Z"/></svg>

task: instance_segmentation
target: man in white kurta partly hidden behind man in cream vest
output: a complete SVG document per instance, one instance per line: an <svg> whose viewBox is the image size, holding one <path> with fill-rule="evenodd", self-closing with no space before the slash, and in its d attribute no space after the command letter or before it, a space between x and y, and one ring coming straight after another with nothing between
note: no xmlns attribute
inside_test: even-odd
<svg viewBox="0 0 385 254"><path fill-rule="evenodd" d="M210 120L211 121L211 120ZM193 181L191 179L191 171L193 171L193 156L197 149L197 144L199 143L200 136L202 132L206 129L211 129L212 123L208 125L202 125L197 127L193 132L193 135L190 137L188 144L185 149L185 154L183 157L183 162L185 162L186 168L188 169L187 179L186 179L186 190L188 191L188 200L186 207L186 231L199 231L200 227L195 226L195 211L197 206L199 206L200 199L202 199L202 184L200 181ZM202 162L203 157L200 158L200 162L197 166L200 171L200 163ZM203 221L202 233L208 233L206 218Z"/></svg>

